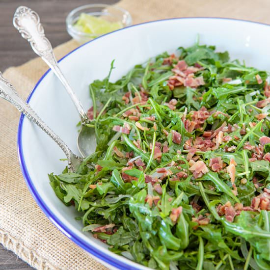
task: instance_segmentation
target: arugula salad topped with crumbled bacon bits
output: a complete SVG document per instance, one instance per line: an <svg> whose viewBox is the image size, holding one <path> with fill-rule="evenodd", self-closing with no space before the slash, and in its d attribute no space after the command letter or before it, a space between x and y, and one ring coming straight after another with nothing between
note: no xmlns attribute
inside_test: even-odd
<svg viewBox="0 0 270 270"><path fill-rule="evenodd" d="M95 153L49 175L83 231L152 269L270 269L269 74L199 44L111 72Z"/></svg>

